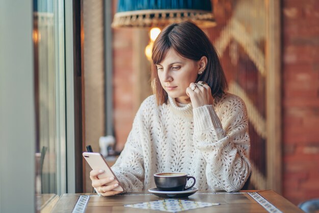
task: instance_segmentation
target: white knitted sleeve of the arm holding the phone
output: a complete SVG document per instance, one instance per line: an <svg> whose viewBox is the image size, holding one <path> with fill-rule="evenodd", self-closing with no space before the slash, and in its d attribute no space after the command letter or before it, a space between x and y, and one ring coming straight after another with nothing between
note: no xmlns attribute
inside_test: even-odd
<svg viewBox="0 0 319 213"><path fill-rule="evenodd" d="M125 192L142 191L144 186L144 161L140 133L143 128L141 108L139 109L132 129L127 137L121 155L112 170Z"/></svg>

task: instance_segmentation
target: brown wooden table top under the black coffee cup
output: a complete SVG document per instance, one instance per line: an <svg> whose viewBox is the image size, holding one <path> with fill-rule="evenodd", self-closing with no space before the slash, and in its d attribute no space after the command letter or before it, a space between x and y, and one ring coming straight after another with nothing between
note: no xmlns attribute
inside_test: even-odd
<svg viewBox="0 0 319 213"><path fill-rule="evenodd" d="M143 213L143 212L166 212L151 209L124 207L127 204L136 204L143 202L150 202L155 200L162 200L150 193L126 193L124 195L117 195L112 197L102 197L96 194L64 194L60 197L58 203L52 209L51 213L71 213L74 206L80 203L79 198L87 199L87 204L84 205L83 211L86 213ZM187 199L187 198L186 198ZM257 200L261 199L261 204ZM188 200L220 203L217 206L210 206L204 208L197 208L181 212L300 212L304 213L294 204L280 196L274 191L241 191L240 193L223 193L223 192L197 192L190 196ZM264 205L264 207L262 206ZM271 206L275 207L271 210ZM268 210L267 210L268 209ZM73 211L74 212L74 211ZM76 211L81 212L81 211Z"/></svg>

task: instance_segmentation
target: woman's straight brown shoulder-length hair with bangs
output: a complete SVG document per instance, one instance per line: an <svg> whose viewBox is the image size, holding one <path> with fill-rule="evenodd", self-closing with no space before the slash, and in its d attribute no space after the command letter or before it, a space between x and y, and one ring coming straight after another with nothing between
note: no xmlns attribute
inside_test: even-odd
<svg viewBox="0 0 319 213"><path fill-rule="evenodd" d="M158 105L167 103L168 94L159 82L156 64L161 63L168 50L174 50L181 57L198 61L207 57L204 72L198 75L196 82L206 82L212 97L221 97L227 89L227 81L217 51L206 34L191 21L173 23L166 27L156 38L152 49L151 84Z"/></svg>

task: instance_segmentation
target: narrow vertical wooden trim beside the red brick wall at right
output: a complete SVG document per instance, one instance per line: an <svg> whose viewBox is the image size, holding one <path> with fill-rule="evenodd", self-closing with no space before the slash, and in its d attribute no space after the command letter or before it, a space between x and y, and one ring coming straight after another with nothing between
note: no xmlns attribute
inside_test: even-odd
<svg viewBox="0 0 319 213"><path fill-rule="evenodd" d="M282 193L280 1L268 1L267 188Z"/></svg>

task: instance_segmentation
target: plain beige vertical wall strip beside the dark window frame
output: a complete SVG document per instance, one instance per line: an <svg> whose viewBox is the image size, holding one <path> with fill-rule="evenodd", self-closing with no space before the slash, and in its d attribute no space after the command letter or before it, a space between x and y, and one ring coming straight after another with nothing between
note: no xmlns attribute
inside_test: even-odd
<svg viewBox="0 0 319 213"><path fill-rule="evenodd" d="M83 1L85 141L99 152L104 136L104 38L103 1ZM88 164L85 164L85 192L92 192Z"/></svg>

